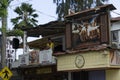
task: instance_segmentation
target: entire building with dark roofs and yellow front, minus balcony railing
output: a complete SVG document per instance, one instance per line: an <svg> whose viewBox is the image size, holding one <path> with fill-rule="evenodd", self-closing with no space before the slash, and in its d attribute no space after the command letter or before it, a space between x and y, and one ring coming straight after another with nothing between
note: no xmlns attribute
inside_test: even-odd
<svg viewBox="0 0 120 80"><path fill-rule="evenodd" d="M43 50L48 37L55 41L57 45L53 55L56 56L57 63L19 66L17 70L22 78L119 80L120 51L113 46L111 36L114 34L111 22L112 25L117 23L111 20L109 14L114 9L112 4L107 4L68 15L65 22L55 21L41 25L43 27L26 29L29 36L43 36L40 40L28 43L31 48Z"/></svg>

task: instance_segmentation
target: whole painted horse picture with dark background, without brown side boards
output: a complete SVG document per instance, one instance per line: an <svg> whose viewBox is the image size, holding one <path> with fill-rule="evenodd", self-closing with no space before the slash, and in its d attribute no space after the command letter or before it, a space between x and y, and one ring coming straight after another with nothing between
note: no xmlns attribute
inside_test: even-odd
<svg viewBox="0 0 120 80"><path fill-rule="evenodd" d="M99 44L101 40L100 16L81 19L79 23L72 23L73 47L88 47Z"/></svg>

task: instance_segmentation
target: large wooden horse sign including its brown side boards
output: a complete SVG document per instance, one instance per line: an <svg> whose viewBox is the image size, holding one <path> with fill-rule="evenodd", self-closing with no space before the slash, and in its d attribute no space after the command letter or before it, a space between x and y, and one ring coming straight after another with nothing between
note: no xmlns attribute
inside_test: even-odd
<svg viewBox="0 0 120 80"><path fill-rule="evenodd" d="M66 25L66 48L83 49L94 45L109 44L107 12L78 18L69 24L71 25Z"/></svg>

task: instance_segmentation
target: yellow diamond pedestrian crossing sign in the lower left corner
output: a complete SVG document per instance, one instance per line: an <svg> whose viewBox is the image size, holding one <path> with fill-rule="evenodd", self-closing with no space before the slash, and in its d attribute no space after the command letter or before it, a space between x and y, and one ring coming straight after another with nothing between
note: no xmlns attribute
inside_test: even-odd
<svg viewBox="0 0 120 80"><path fill-rule="evenodd" d="M8 67L4 67L0 72L0 76L3 80L9 80L12 75Z"/></svg>

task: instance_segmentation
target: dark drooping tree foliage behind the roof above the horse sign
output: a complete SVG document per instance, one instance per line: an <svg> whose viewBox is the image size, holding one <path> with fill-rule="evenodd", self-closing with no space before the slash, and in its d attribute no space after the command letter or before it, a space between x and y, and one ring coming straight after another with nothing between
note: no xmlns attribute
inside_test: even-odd
<svg viewBox="0 0 120 80"><path fill-rule="evenodd" d="M58 14L58 20L62 20L65 15L68 15L68 9L78 12L93 6L103 5L105 1L108 0L53 0L53 3L57 5L56 14Z"/></svg>

